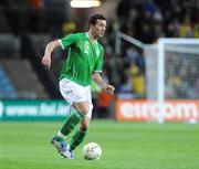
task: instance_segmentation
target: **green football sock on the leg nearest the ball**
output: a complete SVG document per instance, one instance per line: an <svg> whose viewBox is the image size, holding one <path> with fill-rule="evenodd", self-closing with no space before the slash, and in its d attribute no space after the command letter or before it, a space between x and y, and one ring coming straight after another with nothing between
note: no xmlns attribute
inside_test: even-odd
<svg viewBox="0 0 199 169"><path fill-rule="evenodd" d="M86 134L87 134L87 130L82 131L81 129L77 129L71 139L70 150L74 150L84 140L84 137L86 136Z"/></svg>

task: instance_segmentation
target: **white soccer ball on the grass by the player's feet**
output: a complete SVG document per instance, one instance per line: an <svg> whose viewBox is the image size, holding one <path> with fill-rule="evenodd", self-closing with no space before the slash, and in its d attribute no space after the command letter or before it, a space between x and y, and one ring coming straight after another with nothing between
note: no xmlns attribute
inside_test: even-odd
<svg viewBox="0 0 199 169"><path fill-rule="evenodd" d="M83 147L83 157L86 160L100 159L102 156L102 148L96 142L88 142Z"/></svg>

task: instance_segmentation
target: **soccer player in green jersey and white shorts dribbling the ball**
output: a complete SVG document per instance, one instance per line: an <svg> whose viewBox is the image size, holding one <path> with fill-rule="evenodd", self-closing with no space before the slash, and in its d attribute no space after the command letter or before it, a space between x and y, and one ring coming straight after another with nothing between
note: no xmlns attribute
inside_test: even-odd
<svg viewBox="0 0 199 169"><path fill-rule="evenodd" d="M92 78L108 94L114 93L114 86L107 84L101 76L104 49L97 42L106 30L106 19L95 13L90 18L88 32L73 33L63 39L48 43L42 64L51 67L51 54L57 46L69 47L69 54L60 74L60 92L70 106L70 115L65 124L53 137L52 144L67 159L74 159L74 149L83 141L92 118L91 102ZM80 124L66 146L65 138Z"/></svg>

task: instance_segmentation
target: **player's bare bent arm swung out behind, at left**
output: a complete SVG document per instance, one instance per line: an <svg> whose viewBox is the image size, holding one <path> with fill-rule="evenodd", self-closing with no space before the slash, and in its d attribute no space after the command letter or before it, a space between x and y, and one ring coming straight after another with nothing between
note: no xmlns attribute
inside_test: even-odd
<svg viewBox="0 0 199 169"><path fill-rule="evenodd" d="M55 41L51 41L50 43L48 43L46 47L45 47L45 52L44 55L42 57L42 64L46 67L50 68L51 67L51 54L53 52L53 50L57 46L60 46L60 42L59 40Z"/></svg>

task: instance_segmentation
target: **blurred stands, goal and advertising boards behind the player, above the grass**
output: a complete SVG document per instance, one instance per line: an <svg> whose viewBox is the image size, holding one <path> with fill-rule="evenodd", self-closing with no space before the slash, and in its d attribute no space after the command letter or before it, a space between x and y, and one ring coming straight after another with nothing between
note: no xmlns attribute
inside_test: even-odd
<svg viewBox="0 0 199 169"><path fill-rule="evenodd" d="M198 0L101 0L94 8L72 8L72 2L0 2L1 119L64 117L57 76L67 51L53 53L51 71L42 67L41 57L50 40L86 31L93 12L107 17L107 32L101 40L103 77L116 86L112 97L92 84L93 117L199 119ZM160 38L176 39L160 44Z"/></svg>

